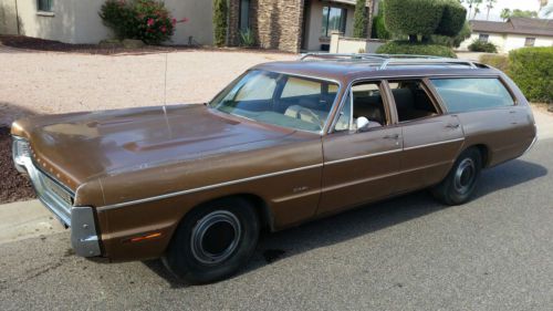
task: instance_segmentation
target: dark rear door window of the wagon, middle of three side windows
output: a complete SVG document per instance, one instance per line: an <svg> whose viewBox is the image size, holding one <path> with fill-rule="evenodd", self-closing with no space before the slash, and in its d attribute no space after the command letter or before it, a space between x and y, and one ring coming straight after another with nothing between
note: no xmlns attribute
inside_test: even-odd
<svg viewBox="0 0 553 311"><path fill-rule="evenodd" d="M422 81L390 81L389 87L394 95L399 122L438 115L432 100L422 86Z"/></svg>

